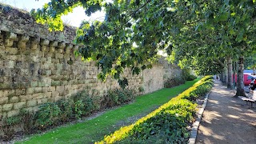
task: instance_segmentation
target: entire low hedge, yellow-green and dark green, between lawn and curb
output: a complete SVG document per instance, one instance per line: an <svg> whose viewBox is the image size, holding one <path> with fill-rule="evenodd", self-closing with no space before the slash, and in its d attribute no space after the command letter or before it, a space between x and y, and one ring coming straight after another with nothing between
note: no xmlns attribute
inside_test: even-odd
<svg viewBox="0 0 256 144"><path fill-rule="evenodd" d="M194 121L197 104L191 100L210 91L212 76L206 76L130 126L121 127L95 143L183 143L190 136L186 127Z"/></svg>

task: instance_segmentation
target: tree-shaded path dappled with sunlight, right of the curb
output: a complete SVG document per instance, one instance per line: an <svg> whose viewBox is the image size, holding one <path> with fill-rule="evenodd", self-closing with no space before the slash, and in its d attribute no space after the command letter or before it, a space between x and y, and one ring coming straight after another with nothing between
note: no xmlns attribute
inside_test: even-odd
<svg viewBox="0 0 256 144"><path fill-rule="evenodd" d="M196 143L256 144L256 104L250 108L233 96L232 90L214 82Z"/></svg>

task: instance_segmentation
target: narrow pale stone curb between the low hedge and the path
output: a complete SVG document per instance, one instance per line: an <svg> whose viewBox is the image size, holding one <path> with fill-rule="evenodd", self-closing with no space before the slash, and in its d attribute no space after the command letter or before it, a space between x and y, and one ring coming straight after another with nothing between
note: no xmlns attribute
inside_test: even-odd
<svg viewBox="0 0 256 144"><path fill-rule="evenodd" d="M199 110L198 112L198 118L196 119L196 121L194 122L193 124L193 127L192 127L192 130L190 131L190 139L189 139L189 144L195 144L195 140L197 138L197 135L198 135L198 127L199 127L199 124L201 122L201 119L202 119L202 114L203 114L203 111L205 110L206 108L206 105L207 105L207 102L208 102L208 97L209 97L209 94L206 94L206 98L205 98L205 101L203 102L202 104L202 108Z"/></svg>

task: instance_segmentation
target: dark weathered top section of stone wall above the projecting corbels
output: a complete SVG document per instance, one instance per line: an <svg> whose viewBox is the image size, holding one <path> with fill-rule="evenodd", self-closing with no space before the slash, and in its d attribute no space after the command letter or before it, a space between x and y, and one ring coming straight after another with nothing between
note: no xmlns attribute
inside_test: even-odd
<svg viewBox="0 0 256 144"><path fill-rule="evenodd" d="M29 12L0 3L0 31L29 37L74 44L76 27L64 26L63 31L50 32L48 27L35 22Z"/></svg>

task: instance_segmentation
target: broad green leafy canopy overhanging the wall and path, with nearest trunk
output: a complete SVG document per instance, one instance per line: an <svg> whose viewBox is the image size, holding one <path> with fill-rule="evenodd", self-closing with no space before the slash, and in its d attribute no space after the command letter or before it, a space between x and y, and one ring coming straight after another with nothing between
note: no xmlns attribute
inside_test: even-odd
<svg viewBox="0 0 256 144"><path fill-rule="evenodd" d="M98 78L111 74L125 86L127 80L120 75L125 67L138 74L151 67L158 50L166 50L180 60L238 60L236 95L245 95L243 55L255 48L255 0L51 0L31 14L49 23L51 30L61 30L60 16L76 6L83 6L88 15L106 11L104 22L82 22L75 39L83 44L76 54L102 69Z"/></svg>

